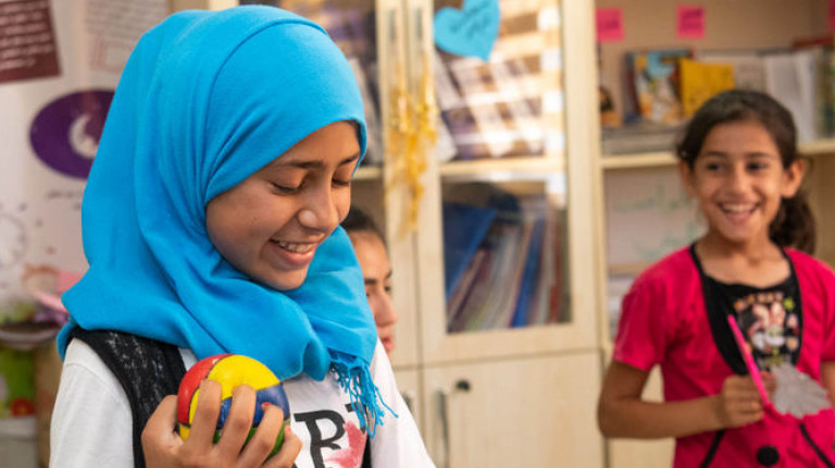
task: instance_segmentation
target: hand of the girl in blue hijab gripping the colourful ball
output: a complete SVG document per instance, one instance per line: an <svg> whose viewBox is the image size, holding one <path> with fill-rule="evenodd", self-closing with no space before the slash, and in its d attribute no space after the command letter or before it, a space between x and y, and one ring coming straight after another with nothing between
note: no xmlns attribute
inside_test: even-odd
<svg viewBox="0 0 835 468"><path fill-rule="evenodd" d="M284 443L275 456L266 459L282 429L284 415L275 405L265 408L254 435L247 441L252 424L256 391L247 385L233 390L232 408L221 440L213 443L217 416L221 411L221 385L204 380L188 440L175 430L176 395L166 396L153 411L142 431L142 452L148 468L290 468L301 449L301 441L284 430Z"/></svg>

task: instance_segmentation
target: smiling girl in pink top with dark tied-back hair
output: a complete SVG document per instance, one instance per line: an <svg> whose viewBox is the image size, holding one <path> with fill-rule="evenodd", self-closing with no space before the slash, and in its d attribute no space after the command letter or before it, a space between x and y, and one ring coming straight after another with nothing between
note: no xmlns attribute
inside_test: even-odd
<svg viewBox="0 0 835 468"><path fill-rule="evenodd" d="M598 423L610 438L676 438L674 467L835 467L832 407L782 414L760 396L728 324L770 394L792 366L835 391L835 274L806 253L814 222L788 111L731 90L677 146L682 182L708 231L641 273L623 299ZM664 402L641 392L661 367Z"/></svg>

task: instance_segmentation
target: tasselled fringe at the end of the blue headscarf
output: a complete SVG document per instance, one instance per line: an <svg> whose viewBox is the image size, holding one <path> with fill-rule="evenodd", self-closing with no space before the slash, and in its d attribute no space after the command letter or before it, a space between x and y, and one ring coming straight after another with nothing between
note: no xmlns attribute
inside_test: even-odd
<svg viewBox="0 0 835 468"><path fill-rule="evenodd" d="M338 352L331 353L333 357L332 368L336 372L336 381L342 392L351 398L351 408L360 419L360 429L364 429L370 438L377 432L377 424L383 426L383 417L386 415L383 408L398 418L379 394L379 389L371 378L369 367L358 364L358 359Z"/></svg>

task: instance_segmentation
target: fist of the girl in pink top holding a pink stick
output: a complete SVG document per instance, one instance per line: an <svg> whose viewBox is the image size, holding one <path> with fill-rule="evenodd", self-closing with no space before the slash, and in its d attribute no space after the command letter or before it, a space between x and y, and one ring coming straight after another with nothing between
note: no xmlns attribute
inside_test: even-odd
<svg viewBox="0 0 835 468"><path fill-rule="evenodd" d="M763 379L764 381L765 379ZM770 379L771 391L774 380ZM748 375L731 375L714 399L714 412L720 428L738 428L763 417L763 403L753 380Z"/></svg>

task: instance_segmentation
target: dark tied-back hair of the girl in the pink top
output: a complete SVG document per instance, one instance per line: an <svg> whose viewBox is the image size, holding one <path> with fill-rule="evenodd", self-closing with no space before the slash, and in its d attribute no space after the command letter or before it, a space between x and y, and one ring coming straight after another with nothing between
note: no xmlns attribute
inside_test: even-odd
<svg viewBox="0 0 835 468"><path fill-rule="evenodd" d="M792 113L767 94L743 89L720 93L696 111L678 139L676 157L693 170L705 138L714 126L744 121L758 122L769 132L780 150L783 169L800 158ZM769 225L769 237L781 247L814 253L815 222L802 189L792 198L783 198L777 215Z"/></svg>

